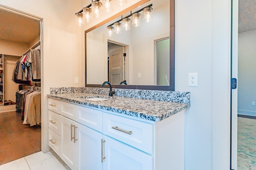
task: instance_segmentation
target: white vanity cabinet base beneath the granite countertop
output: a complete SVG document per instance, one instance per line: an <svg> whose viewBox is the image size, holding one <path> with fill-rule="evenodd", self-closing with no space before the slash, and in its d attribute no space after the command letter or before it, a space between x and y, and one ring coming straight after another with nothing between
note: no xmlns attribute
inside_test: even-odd
<svg viewBox="0 0 256 170"><path fill-rule="evenodd" d="M51 103L49 119L58 124L49 121L49 140L52 133L59 137L59 152L50 141L49 146L72 170L184 170L184 111L154 122Z"/></svg>

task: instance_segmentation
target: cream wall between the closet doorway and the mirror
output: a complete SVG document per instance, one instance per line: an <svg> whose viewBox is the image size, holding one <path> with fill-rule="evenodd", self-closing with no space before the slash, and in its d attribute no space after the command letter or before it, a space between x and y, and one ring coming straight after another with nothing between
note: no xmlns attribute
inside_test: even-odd
<svg viewBox="0 0 256 170"><path fill-rule="evenodd" d="M48 150L48 105L50 87L81 86L81 28L75 24L75 13L81 1L73 0L0 0L0 4L43 19L42 117L43 150ZM74 84L79 77L79 84Z"/></svg>

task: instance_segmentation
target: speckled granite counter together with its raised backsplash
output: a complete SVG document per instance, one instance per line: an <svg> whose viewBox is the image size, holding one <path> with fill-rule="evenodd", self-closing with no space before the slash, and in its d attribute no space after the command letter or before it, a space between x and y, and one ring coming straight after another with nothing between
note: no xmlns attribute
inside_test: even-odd
<svg viewBox="0 0 256 170"><path fill-rule="evenodd" d="M190 107L189 92L113 90L116 95L109 97L106 95L109 88L51 88L51 94L47 96L151 121L161 121ZM86 99L95 97L107 100L91 101Z"/></svg>

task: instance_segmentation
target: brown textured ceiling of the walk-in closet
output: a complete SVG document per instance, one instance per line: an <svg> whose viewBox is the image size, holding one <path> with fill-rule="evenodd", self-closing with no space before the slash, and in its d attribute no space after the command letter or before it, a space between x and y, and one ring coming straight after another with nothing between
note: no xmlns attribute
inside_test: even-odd
<svg viewBox="0 0 256 170"><path fill-rule="evenodd" d="M0 40L31 44L40 36L40 21L0 10Z"/></svg>

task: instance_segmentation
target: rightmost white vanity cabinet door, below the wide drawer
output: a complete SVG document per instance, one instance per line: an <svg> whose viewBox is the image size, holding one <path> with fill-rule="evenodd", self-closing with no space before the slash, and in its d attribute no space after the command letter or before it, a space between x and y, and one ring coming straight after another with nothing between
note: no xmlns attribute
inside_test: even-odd
<svg viewBox="0 0 256 170"><path fill-rule="evenodd" d="M153 156L104 136L103 170L153 170Z"/></svg>

